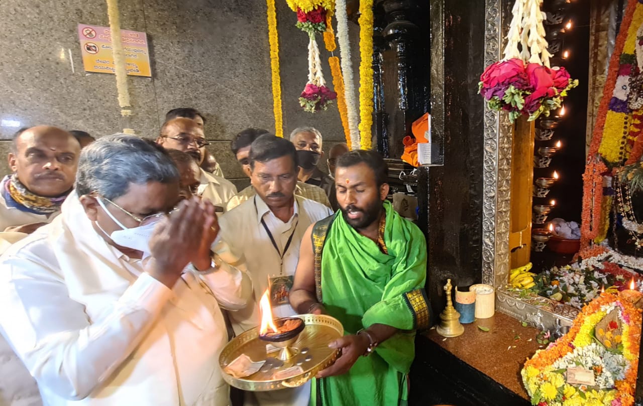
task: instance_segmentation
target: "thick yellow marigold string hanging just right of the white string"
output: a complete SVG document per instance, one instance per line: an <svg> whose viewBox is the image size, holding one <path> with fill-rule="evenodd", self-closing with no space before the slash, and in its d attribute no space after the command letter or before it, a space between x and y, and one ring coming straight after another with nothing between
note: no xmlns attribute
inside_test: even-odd
<svg viewBox="0 0 643 406"><path fill-rule="evenodd" d="M373 0L359 1L359 134L370 150L373 125Z"/></svg>

